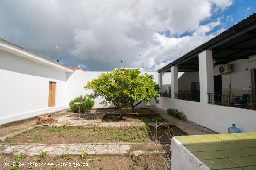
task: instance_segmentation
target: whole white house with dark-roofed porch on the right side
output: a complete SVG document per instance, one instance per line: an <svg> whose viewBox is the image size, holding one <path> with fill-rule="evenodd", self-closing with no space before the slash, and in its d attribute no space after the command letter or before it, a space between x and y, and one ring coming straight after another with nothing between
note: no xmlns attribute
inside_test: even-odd
<svg viewBox="0 0 256 170"><path fill-rule="evenodd" d="M256 130L256 14L158 70L171 72L171 95L158 107L182 111L187 120L218 133L235 123ZM178 79L178 72L185 72ZM162 84L160 84L162 87ZM164 97L163 97L164 96Z"/></svg>

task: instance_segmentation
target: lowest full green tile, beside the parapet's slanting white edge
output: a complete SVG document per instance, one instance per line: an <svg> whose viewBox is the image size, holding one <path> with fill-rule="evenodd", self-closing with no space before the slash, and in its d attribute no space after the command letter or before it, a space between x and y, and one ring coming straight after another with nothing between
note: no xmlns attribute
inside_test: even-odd
<svg viewBox="0 0 256 170"><path fill-rule="evenodd" d="M202 160L202 162L206 164L211 170L238 167L237 164L233 163L227 158Z"/></svg>

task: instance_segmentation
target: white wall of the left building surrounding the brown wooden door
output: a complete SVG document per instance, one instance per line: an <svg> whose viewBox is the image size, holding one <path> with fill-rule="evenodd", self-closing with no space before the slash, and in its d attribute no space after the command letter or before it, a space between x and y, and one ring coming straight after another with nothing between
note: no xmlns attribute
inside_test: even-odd
<svg viewBox="0 0 256 170"><path fill-rule="evenodd" d="M67 108L67 74L0 50L0 124ZM56 82L55 107L48 107L49 81Z"/></svg>

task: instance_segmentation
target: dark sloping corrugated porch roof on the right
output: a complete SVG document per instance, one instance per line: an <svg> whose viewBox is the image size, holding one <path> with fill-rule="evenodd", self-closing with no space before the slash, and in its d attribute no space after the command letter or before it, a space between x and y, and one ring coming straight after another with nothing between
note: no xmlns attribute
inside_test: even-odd
<svg viewBox="0 0 256 170"><path fill-rule="evenodd" d="M213 51L215 65L248 59L248 56L256 54L256 13L159 69L158 72L171 72L172 66L178 66L179 72L198 71L198 54L204 50Z"/></svg>

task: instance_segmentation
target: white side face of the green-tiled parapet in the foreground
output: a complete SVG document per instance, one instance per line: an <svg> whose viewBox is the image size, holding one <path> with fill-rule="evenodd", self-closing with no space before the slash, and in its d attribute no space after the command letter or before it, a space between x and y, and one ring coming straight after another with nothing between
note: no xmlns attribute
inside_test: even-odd
<svg viewBox="0 0 256 170"><path fill-rule="evenodd" d="M210 170L175 137L171 140L172 170Z"/></svg>

